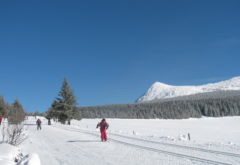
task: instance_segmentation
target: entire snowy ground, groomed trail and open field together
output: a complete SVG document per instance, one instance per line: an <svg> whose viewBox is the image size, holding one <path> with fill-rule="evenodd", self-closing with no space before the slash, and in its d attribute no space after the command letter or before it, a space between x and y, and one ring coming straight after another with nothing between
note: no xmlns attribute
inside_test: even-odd
<svg viewBox="0 0 240 165"><path fill-rule="evenodd" d="M38 153L42 165L240 164L240 117L186 120L107 119L108 142L101 142L100 119L52 123L36 130L26 121L23 153ZM188 139L190 133L190 140Z"/></svg>

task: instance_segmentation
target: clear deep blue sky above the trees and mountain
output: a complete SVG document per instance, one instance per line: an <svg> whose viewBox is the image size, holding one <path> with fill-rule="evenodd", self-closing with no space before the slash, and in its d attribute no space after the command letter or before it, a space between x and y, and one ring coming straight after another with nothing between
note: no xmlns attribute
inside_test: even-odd
<svg viewBox="0 0 240 165"><path fill-rule="evenodd" d="M240 1L1 0L0 76L27 111L47 110L64 77L86 106L240 76Z"/></svg>

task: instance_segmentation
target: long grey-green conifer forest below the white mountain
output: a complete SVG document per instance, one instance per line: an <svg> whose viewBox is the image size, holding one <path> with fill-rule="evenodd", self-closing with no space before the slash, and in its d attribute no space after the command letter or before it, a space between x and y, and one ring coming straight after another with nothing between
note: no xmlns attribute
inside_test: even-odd
<svg viewBox="0 0 240 165"><path fill-rule="evenodd" d="M81 118L184 119L239 116L240 91L217 91L133 104L79 107Z"/></svg>

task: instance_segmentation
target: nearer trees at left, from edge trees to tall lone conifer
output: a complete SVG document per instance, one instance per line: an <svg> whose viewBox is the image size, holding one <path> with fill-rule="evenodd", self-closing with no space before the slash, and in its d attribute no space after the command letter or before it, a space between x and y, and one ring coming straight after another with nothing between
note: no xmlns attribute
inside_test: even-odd
<svg viewBox="0 0 240 165"><path fill-rule="evenodd" d="M16 100L13 104L8 104L2 96L0 96L0 116L8 118L10 124L20 124L24 121L26 115L30 116L45 116L47 119L56 119L61 123L70 124L71 119L80 119L80 113L77 110L76 97L73 90L70 88L66 78L64 78L61 90L56 97L51 107L45 112L40 113L29 112L25 113L21 103Z"/></svg>

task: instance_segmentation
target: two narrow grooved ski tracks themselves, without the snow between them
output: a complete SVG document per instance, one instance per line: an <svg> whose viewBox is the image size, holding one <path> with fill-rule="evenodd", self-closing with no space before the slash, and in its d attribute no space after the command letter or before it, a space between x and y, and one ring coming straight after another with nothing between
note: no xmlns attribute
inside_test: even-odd
<svg viewBox="0 0 240 165"><path fill-rule="evenodd" d="M60 129L65 129L65 130L69 130L69 131L76 131L76 132L80 132L80 133L84 133L84 134L89 134L92 136L96 136L99 137L99 134L93 133L91 131L87 131L87 130L82 130L82 129L78 129L78 128L64 128L64 127L59 127L59 126L53 126L56 128L60 128ZM142 142L148 142L148 143L155 143L154 141L149 141L149 140L143 140L143 139L138 139L138 138L132 138L132 137L128 137L128 136L123 136L123 135L118 135L118 134L112 134L113 136L118 136L120 138L125 138L125 139L130 139L130 140L134 140L134 141L142 141ZM166 150L162 150L162 149L156 149L156 148L152 148L152 147L146 147L146 146L142 146L142 145L138 145L138 144L134 144L134 143L129 143L126 141L122 141L122 140L118 140L115 138L110 138L111 141L119 143L119 144L123 144L123 145L127 145L127 146L131 146L131 147L135 147L135 148L139 148L139 149L143 149L143 150L147 150L147 151L153 151L153 152L157 152L157 153L163 153L163 154L167 154L167 155L171 155L171 156L175 156L178 158L184 158L184 159L189 159L192 161L197 161L197 162L201 162L201 163L208 163L208 164L214 164L214 165L230 165L229 163L224 163L224 162L219 162L219 161L214 161L214 160L209 160L209 159L205 159L205 158L200 158L197 156L190 156L187 154L181 154L181 153L175 153L175 152L170 152L170 151L166 151ZM160 142L156 142L156 144L161 144ZM187 146L180 146L180 145L174 145L174 144L168 144L168 143L163 143L161 145L168 145L174 148L183 148L183 149L190 149L190 150L196 150L196 151L200 151L200 152L207 152L207 153L212 153L212 154L222 154L225 156L236 156L239 157L240 155L238 154L233 154L233 153L228 153L228 152L221 152L221 151L212 151L212 152L208 152L208 150L206 149L201 149L201 148L195 148L195 147L187 147Z"/></svg>

